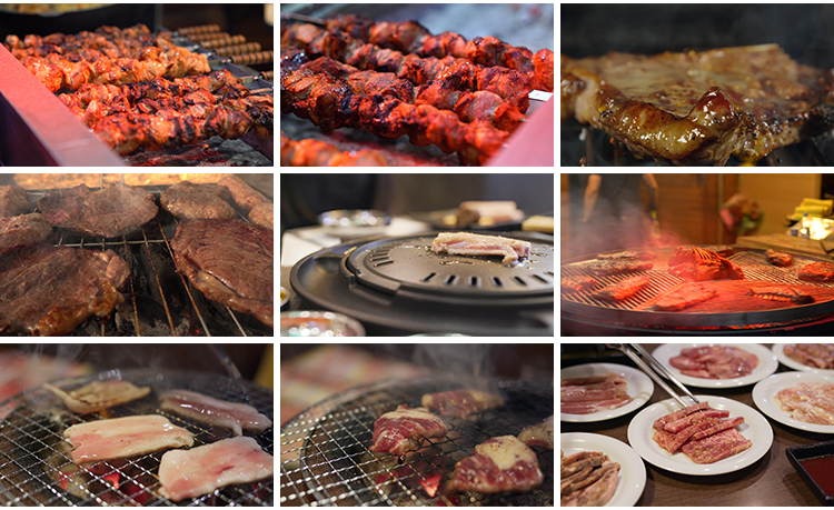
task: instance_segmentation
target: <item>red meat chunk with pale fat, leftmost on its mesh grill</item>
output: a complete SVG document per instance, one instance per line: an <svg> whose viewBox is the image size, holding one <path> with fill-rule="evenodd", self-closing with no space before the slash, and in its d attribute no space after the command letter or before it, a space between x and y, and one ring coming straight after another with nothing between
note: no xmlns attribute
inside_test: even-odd
<svg viewBox="0 0 834 510"><path fill-rule="evenodd" d="M370 451L403 456L408 450L418 449L424 438L443 438L447 430L446 423L428 409L411 409L403 404L374 422Z"/></svg>

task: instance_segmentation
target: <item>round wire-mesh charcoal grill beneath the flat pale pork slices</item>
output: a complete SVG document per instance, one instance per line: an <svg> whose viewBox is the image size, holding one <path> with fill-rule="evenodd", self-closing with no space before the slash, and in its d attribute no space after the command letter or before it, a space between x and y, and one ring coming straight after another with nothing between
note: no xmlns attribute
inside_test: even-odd
<svg viewBox="0 0 834 510"><path fill-rule="evenodd" d="M248 403L270 419L274 396L249 382L200 372L159 372L149 369L111 370L98 376L54 382L75 389L93 380L121 379L150 386L142 399L117 406L99 414L79 417L66 410L60 399L41 388L0 404L0 504L7 506L175 506L159 494L157 477L163 451L122 460L100 461L80 471L68 453L62 432L83 421L158 413L195 434L195 447L231 437L231 431L209 427L159 409L158 396L169 389L189 389L224 400ZM270 428L255 437L272 454ZM193 506L272 506L274 480L221 488L182 503Z"/></svg>

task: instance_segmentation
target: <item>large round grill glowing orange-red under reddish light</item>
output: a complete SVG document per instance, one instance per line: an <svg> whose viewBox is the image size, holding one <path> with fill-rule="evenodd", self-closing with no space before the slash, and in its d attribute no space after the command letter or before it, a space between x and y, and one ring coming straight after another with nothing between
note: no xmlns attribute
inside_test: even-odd
<svg viewBox="0 0 834 510"><path fill-rule="evenodd" d="M659 297L691 284L666 270L666 261L674 254L675 248L639 249L657 256L653 260L653 269L594 278L599 282L597 289L635 276L651 277L649 283L631 298L617 302L595 299L595 289L576 293L563 291L563 329L579 334L588 331L604 334L615 334L617 331L696 334L781 331L796 334L834 330L834 283L807 282L797 277L802 267L825 259L792 253L792 264L777 268L767 262L765 250L733 248L735 253L727 258L742 268L745 279L705 282L717 291L717 296L677 312L649 310ZM595 258L592 256L563 262L562 277L593 276L585 269L585 263ZM794 304L745 296L751 289L778 286L797 288L811 294L814 302ZM812 326L810 330L805 329Z"/></svg>

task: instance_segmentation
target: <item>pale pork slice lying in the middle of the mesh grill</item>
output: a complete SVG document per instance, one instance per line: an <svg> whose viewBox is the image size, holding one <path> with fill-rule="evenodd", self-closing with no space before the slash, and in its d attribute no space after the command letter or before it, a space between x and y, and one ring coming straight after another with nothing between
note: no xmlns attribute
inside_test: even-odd
<svg viewBox="0 0 834 510"><path fill-rule="evenodd" d="M191 432L159 414L88 421L70 427L63 437L73 447L70 454L77 464L193 444Z"/></svg>

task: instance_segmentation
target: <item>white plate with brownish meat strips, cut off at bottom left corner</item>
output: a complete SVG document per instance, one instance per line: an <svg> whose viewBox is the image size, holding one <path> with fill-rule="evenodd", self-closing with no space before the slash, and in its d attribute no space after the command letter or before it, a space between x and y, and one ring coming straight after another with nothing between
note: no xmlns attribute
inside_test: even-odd
<svg viewBox="0 0 834 510"><path fill-rule="evenodd" d="M646 467L628 444L598 433L568 432L559 434L565 457L580 451L602 451L619 463L619 483L606 507L634 507L646 487Z"/></svg>

